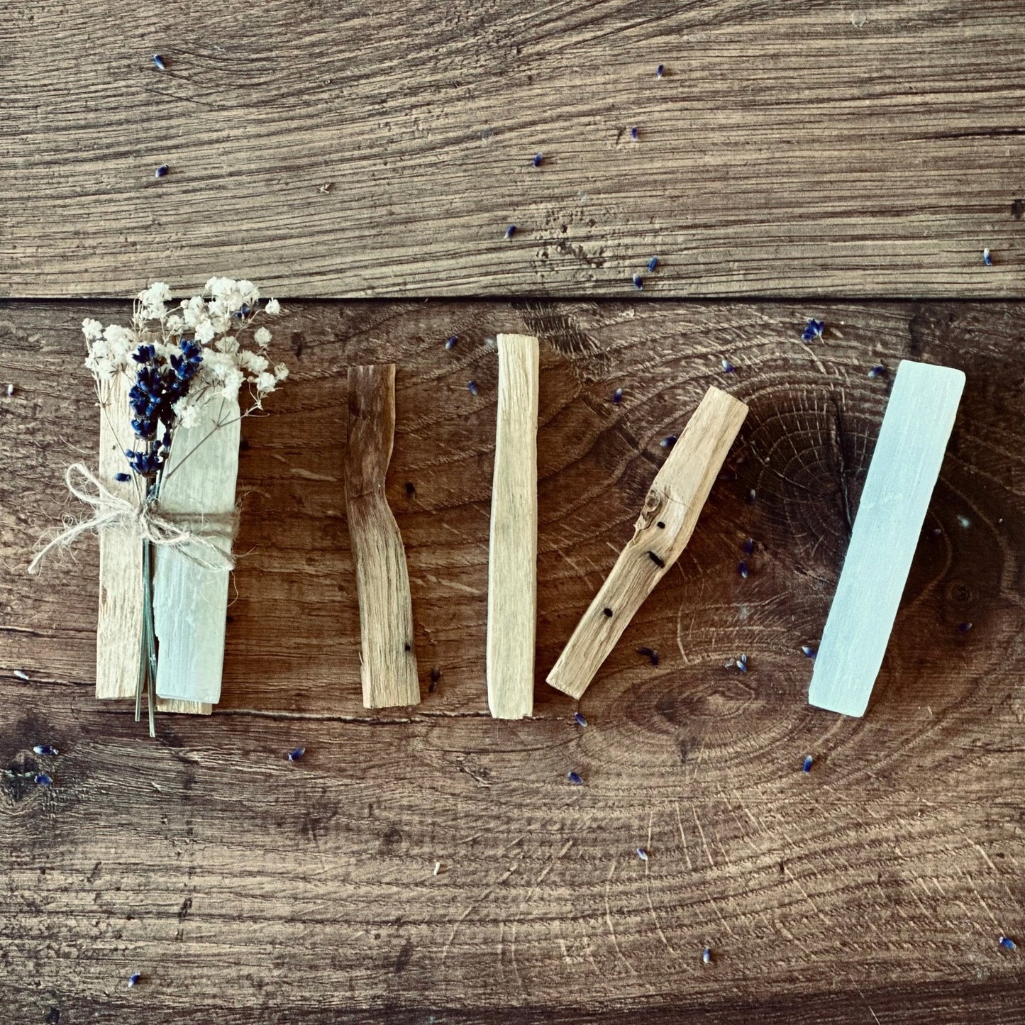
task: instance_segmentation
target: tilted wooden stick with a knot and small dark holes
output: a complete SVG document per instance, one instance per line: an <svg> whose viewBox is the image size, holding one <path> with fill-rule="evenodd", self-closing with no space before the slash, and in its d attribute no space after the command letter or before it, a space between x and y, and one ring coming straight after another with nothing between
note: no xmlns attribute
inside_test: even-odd
<svg viewBox="0 0 1025 1025"><path fill-rule="evenodd" d="M548 673L548 683L578 698L645 599L680 558L694 532L747 406L717 387L705 393L655 475L633 537L619 554L590 608Z"/></svg>

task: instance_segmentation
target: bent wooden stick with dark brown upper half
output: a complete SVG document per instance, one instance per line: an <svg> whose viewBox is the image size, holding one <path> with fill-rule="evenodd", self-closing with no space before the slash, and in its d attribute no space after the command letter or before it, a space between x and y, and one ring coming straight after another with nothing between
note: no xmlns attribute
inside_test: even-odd
<svg viewBox="0 0 1025 1025"><path fill-rule="evenodd" d="M360 675L367 708L420 701L406 552L384 497L394 441L395 364L350 367L345 503L360 601Z"/></svg>

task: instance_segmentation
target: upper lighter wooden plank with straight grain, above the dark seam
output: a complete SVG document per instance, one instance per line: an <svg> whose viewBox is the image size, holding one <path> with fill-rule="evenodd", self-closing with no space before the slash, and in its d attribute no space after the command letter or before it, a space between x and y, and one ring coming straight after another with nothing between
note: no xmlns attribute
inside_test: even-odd
<svg viewBox="0 0 1025 1025"><path fill-rule="evenodd" d="M3 0L0 287L1025 295L1021 13Z"/></svg>

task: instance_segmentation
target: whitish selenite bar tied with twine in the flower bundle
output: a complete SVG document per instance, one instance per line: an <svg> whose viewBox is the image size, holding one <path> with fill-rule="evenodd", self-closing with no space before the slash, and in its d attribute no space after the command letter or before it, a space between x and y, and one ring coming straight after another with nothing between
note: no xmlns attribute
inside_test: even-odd
<svg viewBox="0 0 1025 1025"><path fill-rule="evenodd" d="M196 422L175 428L160 487L162 511L195 518L198 526L204 518L223 523L222 530L204 537L206 545L215 545L225 556L232 552L240 437L238 402L210 394L199 403ZM154 545L153 559L157 696L216 704L224 664L231 570L212 565L209 547L200 541Z"/></svg>

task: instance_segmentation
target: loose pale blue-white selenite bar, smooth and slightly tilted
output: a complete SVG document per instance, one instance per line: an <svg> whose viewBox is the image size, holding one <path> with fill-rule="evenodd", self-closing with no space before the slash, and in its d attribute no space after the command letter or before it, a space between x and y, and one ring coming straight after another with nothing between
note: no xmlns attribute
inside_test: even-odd
<svg viewBox="0 0 1025 1025"><path fill-rule="evenodd" d="M963 388L951 367L897 368L815 658L808 700L819 708L868 707Z"/></svg>

